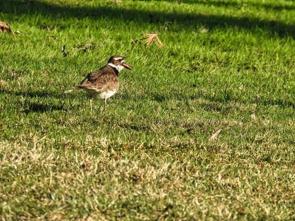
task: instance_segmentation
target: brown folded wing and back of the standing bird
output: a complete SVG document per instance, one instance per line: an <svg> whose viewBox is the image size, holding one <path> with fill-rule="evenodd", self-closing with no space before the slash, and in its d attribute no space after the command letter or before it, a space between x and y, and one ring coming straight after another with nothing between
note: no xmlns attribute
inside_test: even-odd
<svg viewBox="0 0 295 221"><path fill-rule="evenodd" d="M116 91L118 86L119 82L117 74L112 67L109 68L109 66L106 65L98 71L90 72L88 76L75 88L95 87L97 89L101 89L102 91Z"/></svg>

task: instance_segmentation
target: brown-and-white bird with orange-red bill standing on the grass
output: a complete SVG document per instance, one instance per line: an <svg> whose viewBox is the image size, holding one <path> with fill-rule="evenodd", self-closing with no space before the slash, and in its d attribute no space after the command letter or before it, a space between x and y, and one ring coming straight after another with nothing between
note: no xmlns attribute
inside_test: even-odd
<svg viewBox="0 0 295 221"><path fill-rule="evenodd" d="M92 98L104 99L104 107L106 109L107 99L114 95L119 87L118 73L131 67L125 63L121 55L111 56L107 65L100 68L98 71L92 71L88 76L75 88L85 89L90 95L90 108L92 111Z"/></svg>

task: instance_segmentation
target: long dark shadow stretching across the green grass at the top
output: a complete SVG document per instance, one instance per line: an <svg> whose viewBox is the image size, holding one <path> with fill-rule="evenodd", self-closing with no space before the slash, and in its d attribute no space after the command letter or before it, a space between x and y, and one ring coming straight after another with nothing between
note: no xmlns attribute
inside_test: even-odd
<svg viewBox="0 0 295 221"><path fill-rule="evenodd" d="M213 4L213 5L227 5L232 4L238 7L240 3L238 2L227 2L227 1L203 1L203 0L187 0L188 3L199 3L199 4ZM256 3L249 3L256 5ZM267 4L266 4L267 5ZM272 7L271 4L266 6L265 4L260 4L261 7ZM273 6L275 10L280 8L275 8L279 6ZM281 7L281 6L280 6ZM285 6L282 6L286 8ZM109 3L107 6L96 5L90 6L80 6L80 7L69 7L66 5L54 4L41 2L38 0L7 0L0 3L0 8L2 13L7 13L10 19L19 19L23 15L42 15L44 17L54 17L53 23L57 25L57 18L64 19L66 17L74 17L78 19L89 18L97 21L100 18L118 19L124 22L133 21L133 23L156 23L163 24L164 22L175 22L183 28L195 28L196 25L202 24L207 28L215 27L236 27L248 30L255 30L257 27L270 32L272 34L278 34L283 37L286 34L295 35L295 25L285 24L277 21L268 21L261 18L249 18L249 17L232 17L225 15L202 15L200 13L188 14L187 12L158 12L154 10L147 9L130 9L116 6L114 3ZM289 9L294 9L290 7ZM42 26L42 24L38 24ZM44 25L44 24L43 24Z"/></svg>

